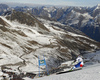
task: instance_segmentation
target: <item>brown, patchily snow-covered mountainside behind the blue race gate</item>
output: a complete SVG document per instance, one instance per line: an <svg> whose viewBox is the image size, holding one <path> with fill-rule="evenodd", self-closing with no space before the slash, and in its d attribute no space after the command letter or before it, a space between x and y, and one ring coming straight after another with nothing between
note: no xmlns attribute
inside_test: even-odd
<svg viewBox="0 0 100 80"><path fill-rule="evenodd" d="M1 70L36 73L38 56L42 59L44 55L50 70L81 51L100 49L100 43L68 26L65 30L64 26L26 12L12 11L10 15L0 16Z"/></svg>

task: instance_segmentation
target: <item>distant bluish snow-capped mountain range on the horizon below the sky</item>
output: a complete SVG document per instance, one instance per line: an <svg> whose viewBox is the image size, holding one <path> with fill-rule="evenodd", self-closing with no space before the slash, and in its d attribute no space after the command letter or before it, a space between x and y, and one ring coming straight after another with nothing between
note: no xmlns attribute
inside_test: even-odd
<svg viewBox="0 0 100 80"><path fill-rule="evenodd" d="M4 7L2 7L4 6ZM6 6L6 7L5 7ZM1 4L2 14L8 6ZM100 4L94 7L14 7L16 11L30 12L34 16L59 21L84 32L90 38L100 42ZM9 10L9 9L8 9Z"/></svg>

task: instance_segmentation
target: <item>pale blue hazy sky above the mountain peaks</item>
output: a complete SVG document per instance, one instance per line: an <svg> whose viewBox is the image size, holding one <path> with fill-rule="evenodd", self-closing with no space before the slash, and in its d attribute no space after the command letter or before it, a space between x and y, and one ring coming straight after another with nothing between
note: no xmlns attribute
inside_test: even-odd
<svg viewBox="0 0 100 80"><path fill-rule="evenodd" d="M100 0L0 0L0 3L28 3L42 5L95 6Z"/></svg>

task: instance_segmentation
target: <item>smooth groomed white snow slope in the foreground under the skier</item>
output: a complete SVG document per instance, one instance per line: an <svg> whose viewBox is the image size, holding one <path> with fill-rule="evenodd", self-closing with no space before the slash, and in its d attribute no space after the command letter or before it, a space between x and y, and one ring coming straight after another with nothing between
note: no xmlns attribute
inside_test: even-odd
<svg viewBox="0 0 100 80"><path fill-rule="evenodd" d="M100 56L100 51L97 51L96 53L88 53L84 55L84 57L88 59L94 57L94 59L96 59L97 61L98 60L100 61L99 56ZM85 63L85 65L86 67L83 67L82 70L59 74L59 75L45 76L34 80L100 80L100 64L94 63L94 65L88 65L88 63ZM27 80L31 80L31 79L27 79Z"/></svg>

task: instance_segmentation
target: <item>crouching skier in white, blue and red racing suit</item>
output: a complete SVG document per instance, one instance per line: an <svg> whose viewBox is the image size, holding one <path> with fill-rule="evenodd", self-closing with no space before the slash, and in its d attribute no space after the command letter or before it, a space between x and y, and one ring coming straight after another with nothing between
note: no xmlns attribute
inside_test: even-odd
<svg viewBox="0 0 100 80"><path fill-rule="evenodd" d="M75 68L79 68L79 67L83 67L84 63L83 63L83 59L81 55L78 55L78 57L76 58L76 60L74 61L74 63L76 63L76 65L74 65L71 70L74 70Z"/></svg>

